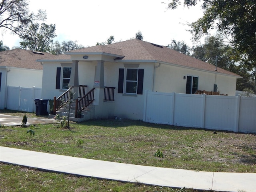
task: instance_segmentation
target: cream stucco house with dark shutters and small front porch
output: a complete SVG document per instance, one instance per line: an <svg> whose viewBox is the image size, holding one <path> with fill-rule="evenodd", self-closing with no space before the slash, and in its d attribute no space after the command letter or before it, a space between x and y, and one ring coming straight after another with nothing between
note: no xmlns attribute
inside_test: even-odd
<svg viewBox="0 0 256 192"><path fill-rule="evenodd" d="M144 91L194 94L196 90L235 95L241 76L165 46L132 39L39 59L42 98L63 94L68 84L94 90L93 118L143 119ZM214 86L215 85L215 86ZM114 89L115 88L115 89ZM114 90L108 99L107 91ZM105 92L104 92L105 91ZM109 101L111 100L111 101ZM114 101L113 101L114 100Z"/></svg>

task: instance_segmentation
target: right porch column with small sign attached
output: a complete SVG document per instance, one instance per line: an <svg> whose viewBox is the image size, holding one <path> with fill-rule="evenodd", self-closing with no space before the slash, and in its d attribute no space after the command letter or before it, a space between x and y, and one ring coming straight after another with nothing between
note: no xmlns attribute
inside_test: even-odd
<svg viewBox="0 0 256 192"><path fill-rule="evenodd" d="M94 77L94 105L101 105L104 99L104 61L98 61Z"/></svg>

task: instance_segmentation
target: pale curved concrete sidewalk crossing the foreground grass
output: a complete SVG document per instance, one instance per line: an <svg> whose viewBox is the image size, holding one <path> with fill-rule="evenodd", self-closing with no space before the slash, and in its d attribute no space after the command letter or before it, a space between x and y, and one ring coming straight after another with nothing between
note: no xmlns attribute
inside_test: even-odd
<svg viewBox="0 0 256 192"><path fill-rule="evenodd" d="M0 146L0 161L39 170L123 182L228 192L256 192L256 173L202 172L76 158Z"/></svg>

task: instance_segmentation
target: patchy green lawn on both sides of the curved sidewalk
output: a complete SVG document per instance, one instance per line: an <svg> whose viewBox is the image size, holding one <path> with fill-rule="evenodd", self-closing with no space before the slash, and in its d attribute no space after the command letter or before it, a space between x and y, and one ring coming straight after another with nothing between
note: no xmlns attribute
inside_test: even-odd
<svg viewBox="0 0 256 192"><path fill-rule="evenodd" d="M35 125L35 135L31 141L29 134L26 133L28 126L2 126L0 144L12 148L146 166L213 172L256 172L254 134L224 131L215 131L215 134L213 130L150 124L135 120L90 120L72 123L70 127L71 130L61 128L60 124ZM155 155L158 150L162 152L162 158ZM1 188L8 187L5 185L8 171L3 170L15 170L16 174L23 176L32 172L43 175L42 180L47 181L43 185L55 182L53 179L46 179L48 174L54 173L41 173L34 169L1 164ZM161 188L156 186L54 175L53 177L58 180L72 180L78 185L77 188L81 188L80 182L88 182L88 185L94 186L91 190L81 188L80 191L105 191L95 188L98 183L102 184L101 187L108 186L105 188L108 190L113 190L116 186L114 191L161 191ZM22 182L25 179L23 176ZM28 182L27 178L26 183ZM124 190L121 189L123 185ZM162 191L178 189L165 188Z"/></svg>

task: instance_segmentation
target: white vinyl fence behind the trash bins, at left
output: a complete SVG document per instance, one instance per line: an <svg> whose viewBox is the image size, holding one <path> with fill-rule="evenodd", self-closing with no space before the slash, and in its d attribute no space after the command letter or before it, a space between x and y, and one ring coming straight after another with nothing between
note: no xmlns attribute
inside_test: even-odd
<svg viewBox="0 0 256 192"><path fill-rule="evenodd" d="M42 88L24 88L8 86L7 109L34 112L34 99L41 98Z"/></svg>

